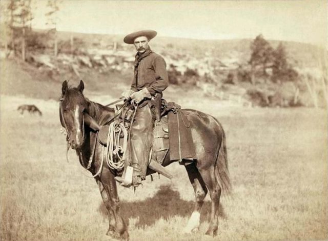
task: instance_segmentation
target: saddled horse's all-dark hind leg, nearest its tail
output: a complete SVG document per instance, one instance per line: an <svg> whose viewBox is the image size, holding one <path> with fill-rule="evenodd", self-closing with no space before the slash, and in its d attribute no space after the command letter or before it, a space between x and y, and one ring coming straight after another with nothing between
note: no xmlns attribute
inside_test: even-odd
<svg viewBox="0 0 328 241"><path fill-rule="evenodd" d="M208 161L210 163L210 161ZM210 226L206 234L216 236L218 229L218 215L220 206L221 188L215 179L214 166L198 167L201 177L203 178L211 196L211 219Z"/></svg>

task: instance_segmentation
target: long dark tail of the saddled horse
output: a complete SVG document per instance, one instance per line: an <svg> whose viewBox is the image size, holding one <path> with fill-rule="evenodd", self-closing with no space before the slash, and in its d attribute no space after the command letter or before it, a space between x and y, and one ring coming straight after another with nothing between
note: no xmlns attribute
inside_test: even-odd
<svg viewBox="0 0 328 241"><path fill-rule="evenodd" d="M231 182L230 182L229 169L228 169L226 134L224 134L224 130L221 125L220 127L221 127L220 129L222 133L222 138L221 138L221 145L219 147L219 151L217 153L217 157L215 161L214 175L222 192L224 194L231 194Z"/></svg>

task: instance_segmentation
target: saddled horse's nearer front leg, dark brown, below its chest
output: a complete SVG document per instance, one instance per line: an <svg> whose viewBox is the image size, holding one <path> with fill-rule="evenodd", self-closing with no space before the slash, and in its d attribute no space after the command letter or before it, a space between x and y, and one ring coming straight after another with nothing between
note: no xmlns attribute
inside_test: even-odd
<svg viewBox="0 0 328 241"><path fill-rule="evenodd" d="M120 213L119 198L113 173L111 173L107 168L104 168L101 172L100 182L103 184L108 196L108 202L106 206L110 207L115 219L115 229L113 236L119 237L122 240L129 240L128 227Z"/></svg>

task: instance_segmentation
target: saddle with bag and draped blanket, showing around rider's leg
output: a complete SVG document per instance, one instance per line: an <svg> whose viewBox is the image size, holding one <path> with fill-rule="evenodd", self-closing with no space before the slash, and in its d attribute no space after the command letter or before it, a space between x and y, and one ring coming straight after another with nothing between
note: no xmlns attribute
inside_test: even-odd
<svg viewBox="0 0 328 241"><path fill-rule="evenodd" d="M117 105L116 109L121 106ZM157 108L156 108L157 109ZM158 110L158 109L157 109ZM195 146L191 134L188 112L173 102L167 103L161 99L160 111L156 111L156 120L153 128L153 146L151 160L162 164L166 156L170 160L179 160L180 164L187 165L197 159ZM159 117L159 118L158 118ZM133 118L133 110L124 108L118 115L120 122L129 130ZM109 126L101 126L98 133L98 142L107 145ZM120 136L119 145L123 146L124 138Z"/></svg>

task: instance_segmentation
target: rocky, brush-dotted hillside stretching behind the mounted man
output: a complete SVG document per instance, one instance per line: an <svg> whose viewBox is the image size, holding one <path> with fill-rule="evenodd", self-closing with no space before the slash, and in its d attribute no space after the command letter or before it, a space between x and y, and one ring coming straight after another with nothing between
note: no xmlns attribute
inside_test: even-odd
<svg viewBox="0 0 328 241"><path fill-rule="evenodd" d="M56 99L55 90L65 79L71 83L83 79L90 93L118 97L131 83L135 53L133 46L122 43L123 37L58 32L58 56L55 58L52 38L38 30L28 39L27 62L19 60L19 53L16 57L10 54L9 58L2 59L1 93ZM280 43L269 42L273 48ZM176 84L174 89L182 93L192 89L201 96L219 101L233 100L241 106L286 107L293 101L295 105L311 106L310 94L301 79L297 83L258 79L255 85L239 79L249 71L251 43L252 39L197 40L158 36L152 39L151 47L165 57L171 85ZM309 44L282 43L289 64L299 74L315 75L321 71L318 66L324 54L322 49ZM2 49L2 58L4 55ZM229 76L231 83L227 84ZM297 102L296 90L299 91ZM318 93L323 103L322 94Z"/></svg>

